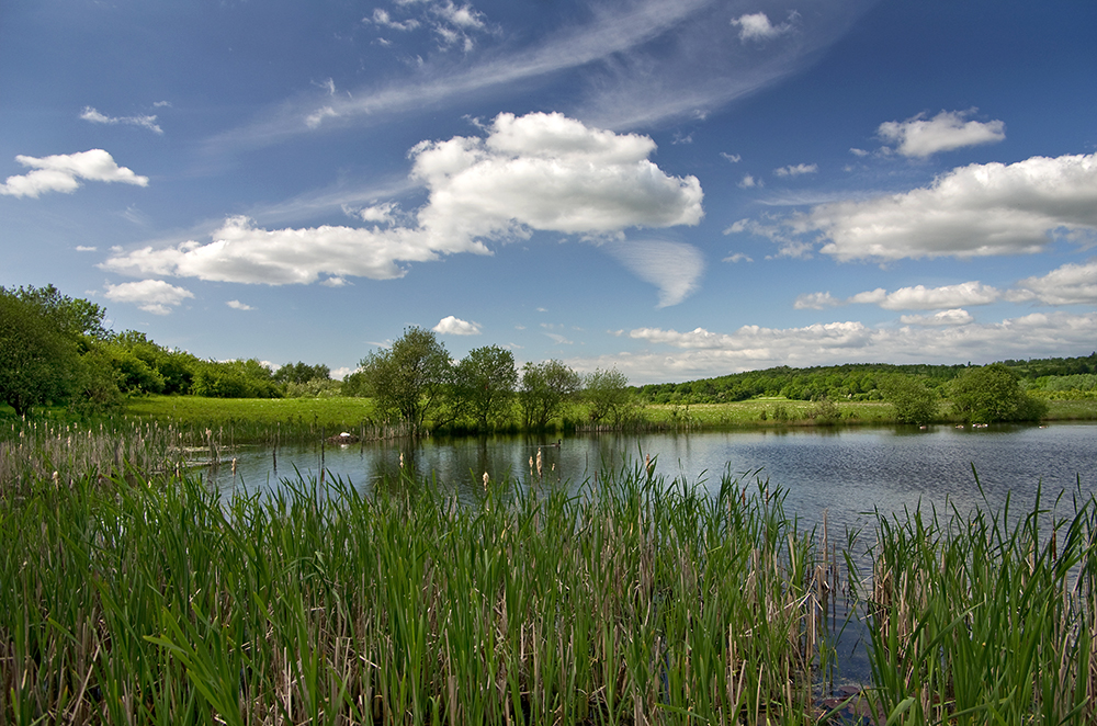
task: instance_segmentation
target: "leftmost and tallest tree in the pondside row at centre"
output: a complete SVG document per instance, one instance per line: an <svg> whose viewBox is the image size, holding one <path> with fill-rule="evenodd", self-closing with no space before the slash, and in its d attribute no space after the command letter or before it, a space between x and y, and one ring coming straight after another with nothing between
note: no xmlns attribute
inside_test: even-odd
<svg viewBox="0 0 1097 726"><path fill-rule="evenodd" d="M416 433L450 383L450 354L430 330L411 327L388 350L360 363L362 378L382 411L396 413Z"/></svg>

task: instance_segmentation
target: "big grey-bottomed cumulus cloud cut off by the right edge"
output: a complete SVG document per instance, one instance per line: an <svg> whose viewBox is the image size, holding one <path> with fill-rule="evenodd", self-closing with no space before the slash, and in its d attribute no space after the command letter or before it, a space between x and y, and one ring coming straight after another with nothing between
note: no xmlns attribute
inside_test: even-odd
<svg viewBox="0 0 1097 726"><path fill-rule="evenodd" d="M736 223L727 234L743 231L794 251L822 240L819 251L844 261L1038 252L1097 234L1097 154L974 163L909 192Z"/></svg>

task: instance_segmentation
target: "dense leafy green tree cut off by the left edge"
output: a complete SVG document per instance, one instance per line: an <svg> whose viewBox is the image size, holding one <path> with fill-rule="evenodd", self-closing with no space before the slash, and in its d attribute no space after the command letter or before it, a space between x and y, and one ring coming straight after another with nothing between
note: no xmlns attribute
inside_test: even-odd
<svg viewBox="0 0 1097 726"><path fill-rule="evenodd" d="M18 416L76 389L80 340L73 329L38 295L0 287L0 399Z"/></svg>

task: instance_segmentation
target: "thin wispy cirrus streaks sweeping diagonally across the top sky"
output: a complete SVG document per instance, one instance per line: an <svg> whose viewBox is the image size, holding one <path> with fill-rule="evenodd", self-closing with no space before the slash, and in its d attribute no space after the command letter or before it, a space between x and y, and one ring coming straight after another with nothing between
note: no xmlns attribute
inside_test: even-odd
<svg viewBox="0 0 1097 726"><path fill-rule="evenodd" d="M773 47L756 47L744 54L730 44L738 26L731 24L733 8L726 3L596 2L581 21L573 14L559 14L556 27L538 33L543 39L518 50L506 43L477 46L460 64L428 59L416 65L414 76L386 77L340 98L316 98L314 93L290 99L256 122L210 139L207 150L222 155L326 128L381 124L400 114L442 107L470 94L501 92L516 84L527 89L540 82L574 84L572 73L579 69L584 80L564 111L588 123L622 129L671 117L703 116L801 68L814 50L838 38L870 4L866 0L834 3L813 18L812 32L801 34L796 42L767 44ZM366 22L403 33L427 27L431 13L449 16L453 29L471 27L484 20L471 9L465 12L468 5L456 3L430 3L430 10L427 5L415 8L397 3L391 10L374 11ZM414 27L407 25L416 18L412 11L422 13ZM502 31L497 35L504 37L508 29Z"/></svg>

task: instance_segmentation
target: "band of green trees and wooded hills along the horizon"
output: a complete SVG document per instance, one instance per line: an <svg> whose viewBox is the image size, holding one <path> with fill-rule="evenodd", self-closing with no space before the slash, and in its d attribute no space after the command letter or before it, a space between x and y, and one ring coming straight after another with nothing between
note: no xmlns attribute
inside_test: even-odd
<svg viewBox="0 0 1097 726"><path fill-rule="evenodd" d="M1033 420L1047 398L1097 397L1097 352L989 366L779 366L630 387L617 370L583 375L557 360L518 368L513 354L498 345L454 361L432 331L415 327L392 348L369 353L340 382L323 364L298 361L272 370L256 359L199 359L138 331L110 331L104 317L99 305L53 285L0 287L0 400L25 416L46 405L67 405L78 413L110 411L146 394L367 396L384 420L415 431L489 431L544 429L576 400L584 404L585 422L620 427L644 404L886 400L901 421L927 422L948 399L953 417L983 422Z"/></svg>

